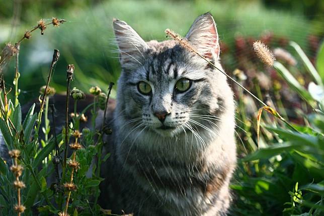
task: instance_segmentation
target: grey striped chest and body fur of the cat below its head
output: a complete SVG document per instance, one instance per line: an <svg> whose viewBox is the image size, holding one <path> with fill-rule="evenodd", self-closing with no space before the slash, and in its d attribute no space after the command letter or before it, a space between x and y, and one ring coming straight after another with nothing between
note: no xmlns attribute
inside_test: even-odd
<svg viewBox="0 0 324 216"><path fill-rule="evenodd" d="M231 111L221 116L228 121L213 128L218 136L201 129L203 141L190 131L177 139L143 134L143 128L130 133L135 126L115 118L103 206L134 215L225 215L236 154ZM198 151L201 142L206 149Z"/></svg>

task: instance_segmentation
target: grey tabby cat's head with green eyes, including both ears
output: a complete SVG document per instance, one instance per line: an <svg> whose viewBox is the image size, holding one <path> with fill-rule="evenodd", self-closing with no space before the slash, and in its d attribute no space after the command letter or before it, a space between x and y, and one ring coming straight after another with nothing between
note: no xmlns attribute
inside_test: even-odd
<svg viewBox="0 0 324 216"><path fill-rule="evenodd" d="M123 21L114 20L113 27L122 66L116 112L125 124L134 120L139 128L166 137L217 126L224 101L232 100L223 74L174 40L144 42ZM195 20L186 38L221 67L218 33L209 13Z"/></svg>

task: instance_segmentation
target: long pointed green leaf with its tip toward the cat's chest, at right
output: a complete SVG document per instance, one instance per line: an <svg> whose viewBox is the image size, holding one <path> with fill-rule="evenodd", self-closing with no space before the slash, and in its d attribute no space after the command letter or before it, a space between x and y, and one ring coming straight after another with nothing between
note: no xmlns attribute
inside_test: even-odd
<svg viewBox="0 0 324 216"><path fill-rule="evenodd" d="M259 159L268 159L271 158L275 155L279 155L283 152L290 151L297 149L298 145L291 143L291 142L286 142L283 144L274 144L268 148L262 148L247 157L243 158L242 161L253 161L253 160L259 160Z"/></svg>

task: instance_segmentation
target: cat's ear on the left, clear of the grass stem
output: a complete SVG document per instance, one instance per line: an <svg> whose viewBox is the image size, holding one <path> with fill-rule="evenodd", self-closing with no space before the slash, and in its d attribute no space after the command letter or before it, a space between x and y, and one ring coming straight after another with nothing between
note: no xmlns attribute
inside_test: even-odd
<svg viewBox="0 0 324 216"><path fill-rule="evenodd" d="M113 20L120 64L123 68L135 69L141 65L143 53L148 49L145 41L124 21Z"/></svg>

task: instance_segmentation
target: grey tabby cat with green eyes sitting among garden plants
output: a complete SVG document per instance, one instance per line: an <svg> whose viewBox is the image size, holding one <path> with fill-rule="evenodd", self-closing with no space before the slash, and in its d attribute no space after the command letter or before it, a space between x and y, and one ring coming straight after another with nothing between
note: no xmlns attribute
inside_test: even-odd
<svg viewBox="0 0 324 216"><path fill-rule="evenodd" d="M236 166L233 93L224 74L174 40L144 40L114 19L122 72L105 137L100 205L115 214L226 215ZM186 39L218 68L211 14Z"/></svg>

